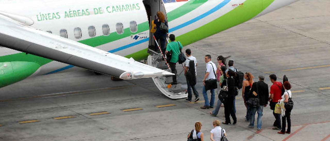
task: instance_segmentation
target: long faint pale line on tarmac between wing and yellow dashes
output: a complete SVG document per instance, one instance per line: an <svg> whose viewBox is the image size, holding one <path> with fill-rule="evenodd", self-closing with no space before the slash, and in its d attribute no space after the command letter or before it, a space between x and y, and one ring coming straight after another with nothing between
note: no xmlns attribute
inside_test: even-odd
<svg viewBox="0 0 330 141"><path fill-rule="evenodd" d="M100 92L100 91L108 91L108 90L117 90L117 89L124 89L124 88L132 88L136 86L117 86L117 87L108 87L108 88L99 88L99 89L90 89L90 90L81 90L81 91L72 91L72 92L63 92L63 93L54 93L54 94L46 94L46 95L39 95L39 96L30 96L30 97L22 97L16 99L3 99L0 102L8 102L8 101L16 101L16 100L27 100L27 99L37 99L37 98L49 98L49 97L57 97L57 96L68 96L74 94L82 94L82 93L89 93L89 92Z"/></svg>

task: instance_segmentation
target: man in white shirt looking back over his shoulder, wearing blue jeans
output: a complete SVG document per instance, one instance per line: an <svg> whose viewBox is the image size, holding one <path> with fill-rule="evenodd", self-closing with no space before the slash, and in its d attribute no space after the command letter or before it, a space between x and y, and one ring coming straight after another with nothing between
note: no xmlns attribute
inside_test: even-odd
<svg viewBox="0 0 330 141"><path fill-rule="evenodd" d="M215 100L215 94L214 89L211 89L211 100L209 103L209 98L207 96L207 90L205 89L205 81L209 79L216 79L215 70L216 65L211 61L211 55L205 55L205 63L206 63L206 73L203 79L203 97L204 97L204 106L201 107L201 109L209 109L213 108L214 106L214 100Z"/></svg>

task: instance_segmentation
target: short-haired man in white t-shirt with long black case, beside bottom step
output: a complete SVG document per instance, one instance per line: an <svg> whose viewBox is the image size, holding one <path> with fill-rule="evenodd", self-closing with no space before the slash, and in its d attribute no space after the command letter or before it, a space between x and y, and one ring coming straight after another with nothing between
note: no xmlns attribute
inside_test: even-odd
<svg viewBox="0 0 330 141"><path fill-rule="evenodd" d="M184 69L184 75L188 72L188 68L189 68L189 62L190 61L194 61L194 68L195 68L195 75L194 76L190 76L190 77L194 77L194 80L196 80L196 76L197 76L197 69L196 69L196 66L198 65L197 64L197 60L196 60L196 58L194 57L194 56L192 56L191 55L191 50L188 48L188 49L186 49L186 56L187 56L187 58L186 58L186 61L184 62L184 66L185 66L185 69ZM191 71L190 71L191 72ZM192 89L192 91L194 92L194 95L195 95L195 100L194 100L194 102L196 102L196 101L198 101L199 100L199 94L198 94L198 92L197 92L197 90L196 90L196 87L195 87L195 85L196 85L196 81L194 81L194 84L193 85L191 85L191 84L189 84L189 82L188 82L188 78L186 78L186 80L187 80L187 93L188 93L188 98L187 99L185 99L185 101L187 101L187 102L191 102L191 98L192 98L192 94L191 94L191 89Z"/></svg>

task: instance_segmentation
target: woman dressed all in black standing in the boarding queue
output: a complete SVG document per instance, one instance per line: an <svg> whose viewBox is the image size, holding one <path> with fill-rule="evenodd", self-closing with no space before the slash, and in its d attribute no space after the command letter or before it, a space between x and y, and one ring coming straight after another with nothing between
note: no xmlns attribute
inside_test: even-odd
<svg viewBox="0 0 330 141"><path fill-rule="evenodd" d="M234 89L234 85L235 85L235 80L233 77L235 77L236 73L232 70L228 70L227 71L227 86L228 86L228 97L226 100L226 103L224 104L224 108L225 108L225 118L226 118L226 122L223 122L222 124L230 124L230 118L229 115L231 115L231 117L233 118L233 124L236 124L237 119L236 119L236 115L234 112L234 107L233 107L233 102L234 102L234 98L235 98L235 89Z"/></svg>

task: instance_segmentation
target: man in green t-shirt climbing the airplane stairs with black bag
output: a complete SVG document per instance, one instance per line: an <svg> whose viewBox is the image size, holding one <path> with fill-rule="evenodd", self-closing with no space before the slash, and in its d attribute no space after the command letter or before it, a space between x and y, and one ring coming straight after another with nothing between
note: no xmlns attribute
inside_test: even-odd
<svg viewBox="0 0 330 141"><path fill-rule="evenodd" d="M173 75L173 82L172 84L177 84L177 69L176 69L176 64L179 61L179 54L180 50L182 49L182 44L178 41L175 41L175 35L171 34L170 35L170 43L167 44L165 54L168 52L172 52L172 58L169 62L170 68Z"/></svg>

